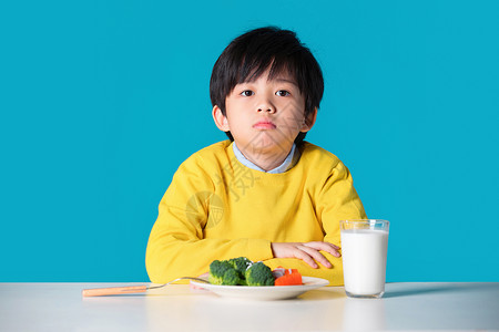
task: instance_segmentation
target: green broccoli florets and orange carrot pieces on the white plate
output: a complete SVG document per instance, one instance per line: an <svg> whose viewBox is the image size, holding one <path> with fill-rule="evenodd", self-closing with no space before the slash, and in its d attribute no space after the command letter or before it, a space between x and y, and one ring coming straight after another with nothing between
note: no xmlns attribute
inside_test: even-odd
<svg viewBox="0 0 499 332"><path fill-rule="evenodd" d="M223 286L295 286L303 284L297 269L271 270L263 262L246 257L214 260L210 264L208 281Z"/></svg>

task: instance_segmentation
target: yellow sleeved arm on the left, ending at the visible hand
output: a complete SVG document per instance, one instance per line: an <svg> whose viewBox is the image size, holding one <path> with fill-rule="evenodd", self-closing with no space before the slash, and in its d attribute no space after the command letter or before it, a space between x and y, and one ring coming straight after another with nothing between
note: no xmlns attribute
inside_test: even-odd
<svg viewBox="0 0 499 332"><path fill-rule="evenodd" d="M152 282L197 277L215 260L245 256L253 261L272 258L264 239L205 239L208 207L215 186L210 174L192 160L179 168L162 198L147 242L145 266ZM213 216L212 216L213 218Z"/></svg>

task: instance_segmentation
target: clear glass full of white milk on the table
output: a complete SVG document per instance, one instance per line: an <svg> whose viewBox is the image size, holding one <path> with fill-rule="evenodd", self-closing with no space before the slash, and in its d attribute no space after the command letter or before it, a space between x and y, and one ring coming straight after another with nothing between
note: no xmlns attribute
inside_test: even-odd
<svg viewBox="0 0 499 332"><path fill-rule="evenodd" d="M345 292L350 298L377 299L385 293L387 220L339 221Z"/></svg>

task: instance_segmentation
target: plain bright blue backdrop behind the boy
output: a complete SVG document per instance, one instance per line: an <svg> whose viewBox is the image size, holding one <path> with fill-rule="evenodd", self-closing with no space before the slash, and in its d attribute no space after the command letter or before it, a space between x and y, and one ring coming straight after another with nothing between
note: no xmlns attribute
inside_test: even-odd
<svg viewBox="0 0 499 332"><path fill-rule="evenodd" d="M177 166L224 139L208 81L248 29L323 66L309 142L391 221L388 281L499 281L497 1L3 1L0 281L146 281Z"/></svg>

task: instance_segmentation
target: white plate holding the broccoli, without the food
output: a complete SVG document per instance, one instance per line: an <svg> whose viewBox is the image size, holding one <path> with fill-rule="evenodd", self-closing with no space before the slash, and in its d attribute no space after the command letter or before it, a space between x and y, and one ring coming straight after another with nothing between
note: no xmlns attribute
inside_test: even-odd
<svg viewBox="0 0 499 332"><path fill-rule="evenodd" d="M297 286L221 286L191 281L192 284L207 289L220 297L249 300L284 300L296 298L309 290L329 284L320 278L302 277L303 284Z"/></svg>

